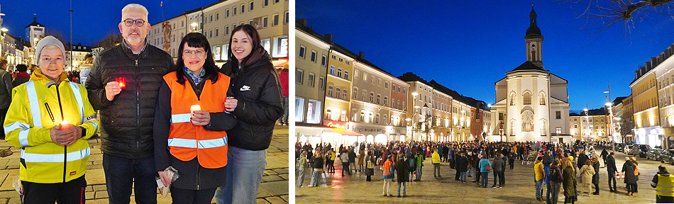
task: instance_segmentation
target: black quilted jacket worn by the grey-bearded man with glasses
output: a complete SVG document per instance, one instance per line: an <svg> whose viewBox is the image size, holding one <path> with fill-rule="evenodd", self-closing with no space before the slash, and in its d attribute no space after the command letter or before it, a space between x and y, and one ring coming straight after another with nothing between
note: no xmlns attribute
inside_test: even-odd
<svg viewBox="0 0 674 204"><path fill-rule="evenodd" d="M139 55L134 55L126 45L101 53L85 86L92 106L101 111L103 153L128 159L153 156L153 123L159 86L164 74L174 71L172 69L171 56L149 44ZM127 85L108 101L105 85L116 77L126 77Z"/></svg>

